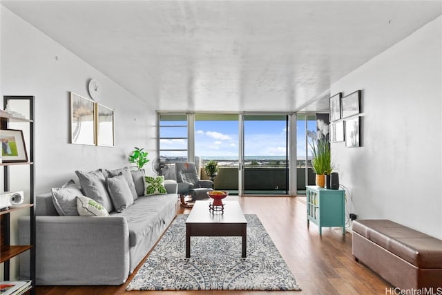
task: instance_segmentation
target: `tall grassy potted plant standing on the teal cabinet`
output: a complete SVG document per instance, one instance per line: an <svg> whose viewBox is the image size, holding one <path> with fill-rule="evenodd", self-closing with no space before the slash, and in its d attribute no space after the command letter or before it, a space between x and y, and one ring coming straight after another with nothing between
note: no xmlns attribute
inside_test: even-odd
<svg viewBox="0 0 442 295"><path fill-rule="evenodd" d="M325 187L325 175L329 175L334 169L330 144L326 137L322 137L319 140L316 139L316 136L311 136L311 134L309 137L311 137L309 146L313 152L311 166L314 173L316 173L316 185L318 187Z"/></svg>

